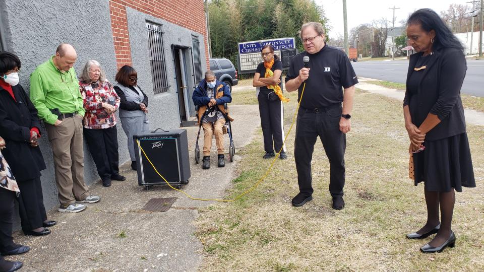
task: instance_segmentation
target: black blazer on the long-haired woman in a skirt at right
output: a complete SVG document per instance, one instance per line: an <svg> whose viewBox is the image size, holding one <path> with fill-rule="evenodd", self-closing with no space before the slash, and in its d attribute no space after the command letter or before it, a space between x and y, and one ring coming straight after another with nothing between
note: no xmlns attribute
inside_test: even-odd
<svg viewBox="0 0 484 272"><path fill-rule="evenodd" d="M412 100L408 80L422 54L418 52L410 56L403 106L409 106L412 122L416 126L420 126L429 113L439 117L441 122L427 133L426 140L435 141L464 133L464 108L460 98L460 88L467 70L464 53L456 48L434 51L418 85L418 96Z"/></svg>

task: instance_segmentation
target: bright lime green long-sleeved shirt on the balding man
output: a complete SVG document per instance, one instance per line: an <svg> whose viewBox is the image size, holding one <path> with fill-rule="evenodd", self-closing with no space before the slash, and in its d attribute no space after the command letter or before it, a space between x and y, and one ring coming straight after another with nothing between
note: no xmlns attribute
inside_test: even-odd
<svg viewBox="0 0 484 272"><path fill-rule="evenodd" d="M57 115L50 110L55 108L61 113L77 112L84 117L86 110L74 67L61 73L52 58L37 66L30 75L30 100L37 108L39 117L46 123L54 124Z"/></svg>

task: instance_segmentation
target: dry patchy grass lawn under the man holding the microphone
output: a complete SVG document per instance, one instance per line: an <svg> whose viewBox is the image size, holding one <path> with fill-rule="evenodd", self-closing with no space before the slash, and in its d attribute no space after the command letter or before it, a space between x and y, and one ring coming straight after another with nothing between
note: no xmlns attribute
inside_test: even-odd
<svg viewBox="0 0 484 272"><path fill-rule="evenodd" d="M253 93L252 93L253 95ZM285 104L285 132L295 109ZM234 94L252 103L248 94ZM244 98L244 99L243 99ZM252 101L252 102L251 102ZM200 210L196 236L205 258L200 271L420 271L484 270L484 127L467 125L477 188L456 193L454 249L422 254L430 241L405 234L426 221L423 185L408 179L408 138L401 103L357 91L346 148L346 207L331 209L329 163L318 141L313 156L314 200L294 208L298 192L293 158L295 127L286 142L288 160L277 160L253 192L230 203ZM243 159L227 191L232 198L263 175L262 132L237 150Z"/></svg>

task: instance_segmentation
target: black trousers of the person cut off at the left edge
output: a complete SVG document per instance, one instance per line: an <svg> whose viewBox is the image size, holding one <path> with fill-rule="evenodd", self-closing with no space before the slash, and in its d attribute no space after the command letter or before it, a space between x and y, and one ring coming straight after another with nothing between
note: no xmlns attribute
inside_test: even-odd
<svg viewBox="0 0 484 272"><path fill-rule="evenodd" d="M15 198L15 192L0 187L0 253L18 247L12 238Z"/></svg>

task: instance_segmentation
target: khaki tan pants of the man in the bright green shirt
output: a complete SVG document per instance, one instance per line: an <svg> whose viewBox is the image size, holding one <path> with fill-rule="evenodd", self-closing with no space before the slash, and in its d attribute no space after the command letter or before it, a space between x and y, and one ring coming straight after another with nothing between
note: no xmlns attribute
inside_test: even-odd
<svg viewBox="0 0 484 272"><path fill-rule="evenodd" d="M55 182L61 205L85 199L89 188L84 183L84 150L82 117L62 120L58 126L45 123L50 147L54 156Z"/></svg>

